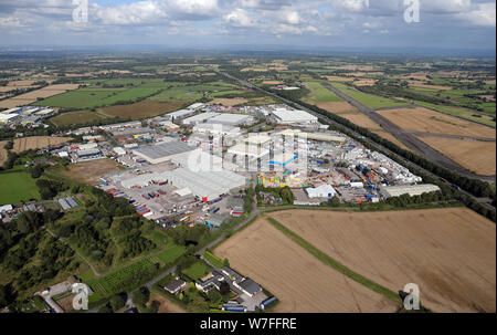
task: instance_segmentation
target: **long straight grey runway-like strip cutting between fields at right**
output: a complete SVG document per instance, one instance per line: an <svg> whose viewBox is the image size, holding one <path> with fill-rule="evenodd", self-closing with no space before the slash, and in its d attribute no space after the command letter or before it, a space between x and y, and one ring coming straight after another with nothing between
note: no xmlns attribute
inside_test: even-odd
<svg viewBox="0 0 497 335"><path fill-rule="evenodd" d="M351 96L345 94L340 90L337 90L331 84L322 82L321 85L352 106L355 106L360 113L364 114L369 118L371 118L373 122L379 124L383 129L385 129L388 133L395 136L399 140L401 140L405 146L409 148L417 151L420 155L429 159L430 161L433 161L448 170L456 171L461 176L473 178L473 179L480 179L484 181L495 181L495 177L491 176L479 176L472 174L451 158L446 157L445 155L441 154L440 151L435 150L421 139L414 136L413 132L404 130L394 123L390 122L379 113L374 112L373 109L364 106L357 100L352 98ZM457 137L456 137L457 138Z"/></svg>

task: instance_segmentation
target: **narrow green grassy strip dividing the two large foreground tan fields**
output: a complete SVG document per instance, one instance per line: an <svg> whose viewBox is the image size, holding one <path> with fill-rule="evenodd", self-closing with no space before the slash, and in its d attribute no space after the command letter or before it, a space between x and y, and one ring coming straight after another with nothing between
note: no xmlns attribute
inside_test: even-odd
<svg viewBox="0 0 497 335"><path fill-rule="evenodd" d="M335 269L336 271L342 273L343 275L348 276L349 279L358 282L359 284L385 296L387 299L398 303L401 305L402 301L395 292L391 291L390 289L387 289L380 284L374 283L373 281L362 276L361 274L350 270L349 268L345 266L340 262L334 260L313 244L310 244L308 241L300 238L298 234L279 223L277 220L273 218L265 219L277 230L283 232L285 235L287 235L292 241L296 242L298 245L300 245L303 249L305 249L307 252L309 252L311 255L314 255L316 259L325 263L326 265Z"/></svg>

